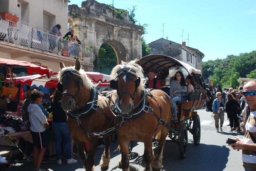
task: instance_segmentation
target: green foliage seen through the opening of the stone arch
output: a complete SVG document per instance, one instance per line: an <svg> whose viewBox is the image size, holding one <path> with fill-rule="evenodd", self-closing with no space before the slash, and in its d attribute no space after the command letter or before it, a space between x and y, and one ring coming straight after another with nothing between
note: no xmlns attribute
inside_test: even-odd
<svg viewBox="0 0 256 171"><path fill-rule="evenodd" d="M110 75L116 65L117 58L114 49L107 43L102 44L99 50L99 72Z"/></svg>

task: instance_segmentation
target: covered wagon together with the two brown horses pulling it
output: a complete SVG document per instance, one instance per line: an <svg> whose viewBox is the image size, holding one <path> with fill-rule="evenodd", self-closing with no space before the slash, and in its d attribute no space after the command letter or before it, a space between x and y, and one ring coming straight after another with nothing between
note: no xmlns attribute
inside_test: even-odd
<svg viewBox="0 0 256 171"><path fill-rule="evenodd" d="M146 171L162 168L162 154L167 136L169 141L178 143L181 158L185 158L187 154L187 130L193 134L195 145L200 143L200 119L194 110L203 106L206 89L201 73L196 68L165 55L149 55L129 63L119 61L111 72L110 87L116 90L103 95L92 86L78 60L74 67L65 67L63 63L60 63L60 67L62 69L58 75L58 89L63 92L62 107L68 113L68 129L86 170L94 170L99 137L105 139L106 145L100 161L101 170L108 170L108 135L113 131L117 132L122 153L119 166L123 171L129 170L131 141L144 143ZM186 97L187 100L181 101L177 107L178 123L173 122L173 105L168 88L165 90L167 93L158 89L145 89L141 79L144 78L143 70L147 72L149 68L156 69L157 78L166 78L173 73L175 75L178 70L184 75L193 76L196 86ZM200 94L204 96L203 99L200 99ZM152 149L152 137L155 137L154 140L159 146L156 156ZM90 144L88 157L84 153L85 140Z"/></svg>

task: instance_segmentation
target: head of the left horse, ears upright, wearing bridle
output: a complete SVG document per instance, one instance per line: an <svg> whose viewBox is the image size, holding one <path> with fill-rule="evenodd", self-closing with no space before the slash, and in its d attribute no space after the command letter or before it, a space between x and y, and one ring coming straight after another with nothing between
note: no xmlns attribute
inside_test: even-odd
<svg viewBox="0 0 256 171"><path fill-rule="evenodd" d="M62 108L65 111L78 110L77 107L83 106L81 104L85 104L91 98L92 82L81 69L79 60L76 60L75 66L72 67L65 67L64 63L60 62L60 69L57 88L63 92Z"/></svg>

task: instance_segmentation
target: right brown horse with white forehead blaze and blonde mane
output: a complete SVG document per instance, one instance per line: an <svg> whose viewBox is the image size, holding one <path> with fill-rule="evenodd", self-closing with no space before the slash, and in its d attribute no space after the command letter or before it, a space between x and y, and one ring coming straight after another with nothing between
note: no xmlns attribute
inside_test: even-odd
<svg viewBox="0 0 256 171"><path fill-rule="evenodd" d="M160 170L163 167L162 154L169 130L160 122L169 124L172 120L169 96L158 89L147 92L140 81L140 78L144 78L142 71L136 61L128 64L119 61L111 72L110 87L117 89L116 111L120 113L119 117L115 118L115 125L124 121L124 124L116 130L122 153L119 167L121 166L123 171L129 171L130 141L144 143L143 158L146 171ZM156 157L152 149L152 137L155 135L160 137Z"/></svg>

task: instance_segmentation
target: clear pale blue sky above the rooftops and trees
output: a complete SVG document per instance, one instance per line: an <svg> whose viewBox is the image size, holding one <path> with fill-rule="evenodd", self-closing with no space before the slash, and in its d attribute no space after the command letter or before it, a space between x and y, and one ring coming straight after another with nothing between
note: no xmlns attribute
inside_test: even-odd
<svg viewBox="0 0 256 171"><path fill-rule="evenodd" d="M84 0L70 1L81 7ZM163 38L164 23L164 39L181 44L183 30L183 41L204 53L203 61L256 50L256 0L114 0L118 9L133 6L135 19L148 24L148 34L143 35L147 44Z"/></svg>

